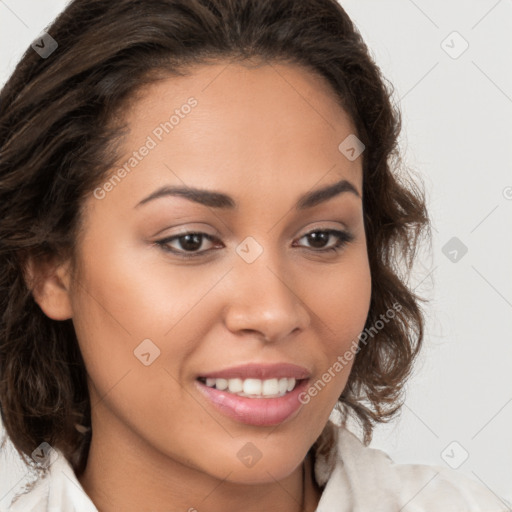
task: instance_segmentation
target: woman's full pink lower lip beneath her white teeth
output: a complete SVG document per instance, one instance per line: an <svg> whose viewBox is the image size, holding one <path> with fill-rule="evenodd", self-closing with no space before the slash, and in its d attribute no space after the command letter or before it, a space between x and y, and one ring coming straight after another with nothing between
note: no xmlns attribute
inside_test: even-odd
<svg viewBox="0 0 512 512"><path fill-rule="evenodd" d="M246 398L210 388L196 380L199 391L222 414L247 425L271 426L287 420L303 405L299 395L307 387L304 379L295 389L279 398Z"/></svg>

